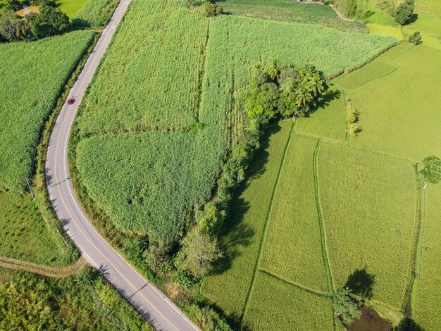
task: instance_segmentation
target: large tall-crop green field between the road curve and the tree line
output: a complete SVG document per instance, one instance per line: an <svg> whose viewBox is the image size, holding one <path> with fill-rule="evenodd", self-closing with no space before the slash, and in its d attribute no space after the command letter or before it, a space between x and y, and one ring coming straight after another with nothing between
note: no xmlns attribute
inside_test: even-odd
<svg viewBox="0 0 441 331"><path fill-rule="evenodd" d="M187 225L183 216L209 199L240 135L244 114L237 96L256 63L316 63L333 75L394 43L316 25L228 15L209 20L200 8L189 10L179 1L135 0L77 118L82 185L119 228L173 242ZM188 132L197 122L199 130ZM162 149L170 153L161 154L165 161L149 157ZM147 164L156 176L138 167ZM119 175L104 180L114 173ZM182 185L190 178L190 186ZM169 192L178 198L170 199Z"/></svg>

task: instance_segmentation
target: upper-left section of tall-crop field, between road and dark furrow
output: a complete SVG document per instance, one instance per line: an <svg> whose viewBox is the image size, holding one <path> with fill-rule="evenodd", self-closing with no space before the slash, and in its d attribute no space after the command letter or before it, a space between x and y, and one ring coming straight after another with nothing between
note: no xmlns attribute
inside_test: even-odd
<svg viewBox="0 0 441 331"><path fill-rule="evenodd" d="M197 120L208 22L172 3L134 1L90 88L81 130L182 130Z"/></svg>

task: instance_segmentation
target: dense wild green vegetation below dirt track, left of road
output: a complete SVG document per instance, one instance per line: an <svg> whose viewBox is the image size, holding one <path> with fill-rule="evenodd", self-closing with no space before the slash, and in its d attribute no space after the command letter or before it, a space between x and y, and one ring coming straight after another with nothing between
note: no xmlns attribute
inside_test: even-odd
<svg viewBox="0 0 441 331"><path fill-rule="evenodd" d="M152 330L96 270L49 280L0 269L1 330Z"/></svg>

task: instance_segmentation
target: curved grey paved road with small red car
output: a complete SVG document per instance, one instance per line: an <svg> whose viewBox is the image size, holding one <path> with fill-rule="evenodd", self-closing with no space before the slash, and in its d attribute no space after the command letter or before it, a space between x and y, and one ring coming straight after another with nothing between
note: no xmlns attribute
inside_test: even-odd
<svg viewBox="0 0 441 331"><path fill-rule="evenodd" d="M130 4L122 0L87 60L69 98L73 105L64 104L51 132L46 158L46 181L54 209L63 227L87 261L115 286L125 299L137 308L158 330L198 330L159 289L151 285L128 264L94 229L82 210L70 182L68 169L68 139L77 107L85 94L101 57L113 33Z"/></svg>

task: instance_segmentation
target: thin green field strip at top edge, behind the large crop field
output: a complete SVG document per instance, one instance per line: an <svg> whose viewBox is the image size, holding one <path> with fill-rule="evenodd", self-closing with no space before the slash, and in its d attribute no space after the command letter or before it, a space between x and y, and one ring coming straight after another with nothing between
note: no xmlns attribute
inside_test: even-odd
<svg viewBox="0 0 441 331"><path fill-rule="evenodd" d="M342 20L330 6L301 4L295 0L226 0L221 5L233 15L285 22L319 24L338 30L364 32L360 22Z"/></svg>

